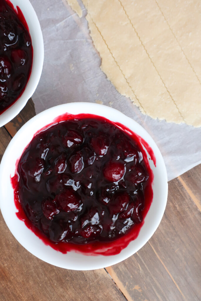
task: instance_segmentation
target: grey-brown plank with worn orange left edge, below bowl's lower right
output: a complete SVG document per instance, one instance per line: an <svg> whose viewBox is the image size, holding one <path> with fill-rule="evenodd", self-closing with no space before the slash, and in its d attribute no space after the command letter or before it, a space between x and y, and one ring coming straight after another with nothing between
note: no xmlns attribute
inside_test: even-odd
<svg viewBox="0 0 201 301"><path fill-rule="evenodd" d="M106 270L128 301L184 301L149 244Z"/></svg>

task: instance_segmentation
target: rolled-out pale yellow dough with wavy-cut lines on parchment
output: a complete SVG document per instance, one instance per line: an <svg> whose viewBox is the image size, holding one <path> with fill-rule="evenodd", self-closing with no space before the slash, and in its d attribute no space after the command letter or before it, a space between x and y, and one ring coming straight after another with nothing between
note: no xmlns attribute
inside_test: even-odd
<svg viewBox="0 0 201 301"><path fill-rule="evenodd" d="M201 43L189 23L197 21L200 32L201 24L197 19L193 21L191 12L185 11L184 19L177 11L175 18L179 22L173 23L163 0L82 2L91 37L102 58L101 69L115 88L152 118L201 126L200 66L197 66L201 62L198 51ZM176 2L181 10L182 2ZM73 8L72 3L77 0L68 0ZM195 13L195 18L199 14ZM183 33L185 26L187 31L192 30L190 46L178 33L181 24Z"/></svg>

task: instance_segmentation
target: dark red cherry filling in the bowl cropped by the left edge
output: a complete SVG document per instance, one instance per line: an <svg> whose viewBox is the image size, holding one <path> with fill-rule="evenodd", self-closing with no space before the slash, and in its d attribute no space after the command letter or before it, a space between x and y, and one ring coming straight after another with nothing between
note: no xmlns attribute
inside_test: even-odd
<svg viewBox="0 0 201 301"><path fill-rule="evenodd" d="M0 114L24 92L32 62L31 37L20 8L0 0Z"/></svg>

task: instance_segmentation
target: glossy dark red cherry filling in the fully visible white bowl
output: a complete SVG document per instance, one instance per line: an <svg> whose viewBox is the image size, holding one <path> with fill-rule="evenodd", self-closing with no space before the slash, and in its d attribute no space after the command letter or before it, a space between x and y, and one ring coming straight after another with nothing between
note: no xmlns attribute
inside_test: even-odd
<svg viewBox="0 0 201 301"><path fill-rule="evenodd" d="M100 116L58 116L16 162L17 217L61 253L120 253L137 238L153 199L141 142Z"/></svg>

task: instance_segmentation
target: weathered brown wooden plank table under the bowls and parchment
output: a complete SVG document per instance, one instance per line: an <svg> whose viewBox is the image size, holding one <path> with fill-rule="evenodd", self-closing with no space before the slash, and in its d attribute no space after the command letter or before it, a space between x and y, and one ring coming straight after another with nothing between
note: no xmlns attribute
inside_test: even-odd
<svg viewBox="0 0 201 301"><path fill-rule="evenodd" d="M11 138L35 115L32 100L0 128L0 160ZM25 250L0 216L0 300L201 300L201 165L170 181L159 228L123 262L77 272L57 268Z"/></svg>

